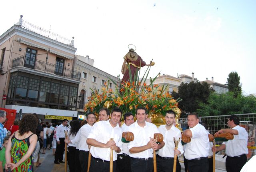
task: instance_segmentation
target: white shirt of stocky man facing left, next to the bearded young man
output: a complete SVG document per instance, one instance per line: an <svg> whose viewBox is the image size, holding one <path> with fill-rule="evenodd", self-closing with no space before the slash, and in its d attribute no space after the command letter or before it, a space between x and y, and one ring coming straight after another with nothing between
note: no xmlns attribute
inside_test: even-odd
<svg viewBox="0 0 256 172"><path fill-rule="evenodd" d="M187 160L208 157L210 149L208 132L201 124L189 129L192 132L191 142L187 143L185 157Z"/></svg>

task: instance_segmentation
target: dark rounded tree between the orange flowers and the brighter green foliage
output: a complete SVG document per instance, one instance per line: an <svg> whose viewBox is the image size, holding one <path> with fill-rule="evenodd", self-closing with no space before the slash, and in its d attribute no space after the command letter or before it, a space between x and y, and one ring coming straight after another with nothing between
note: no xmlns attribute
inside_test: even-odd
<svg viewBox="0 0 256 172"><path fill-rule="evenodd" d="M200 103L207 103L207 99L213 90L206 82L202 84L198 81L190 83L182 83L178 87L178 93L172 92L174 99L181 98L179 108L182 110L182 117L186 117L186 113L195 112L199 108Z"/></svg>

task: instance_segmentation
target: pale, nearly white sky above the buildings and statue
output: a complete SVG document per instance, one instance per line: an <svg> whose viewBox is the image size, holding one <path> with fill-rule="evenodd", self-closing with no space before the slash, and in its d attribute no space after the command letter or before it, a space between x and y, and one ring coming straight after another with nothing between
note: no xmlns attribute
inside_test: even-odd
<svg viewBox="0 0 256 172"><path fill-rule="evenodd" d="M76 54L121 74L128 44L159 72L226 84L238 72L245 95L256 94L255 0L44 0L1 2L0 35L23 20L72 39ZM130 47L131 48L131 47ZM146 70L142 68L141 73Z"/></svg>

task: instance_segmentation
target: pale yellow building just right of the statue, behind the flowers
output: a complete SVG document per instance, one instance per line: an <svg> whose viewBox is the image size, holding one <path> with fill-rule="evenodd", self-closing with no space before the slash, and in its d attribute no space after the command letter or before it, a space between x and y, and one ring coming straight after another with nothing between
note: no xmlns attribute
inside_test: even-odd
<svg viewBox="0 0 256 172"><path fill-rule="evenodd" d="M166 88L166 90L168 90L168 92L171 93L172 91L178 92L178 86L180 86L181 82L182 79L180 78L176 78L174 76L165 74L161 76L161 74L159 73L156 80L154 80L153 84L158 84L159 86L168 84L168 88ZM149 79L146 80L146 84L150 85Z"/></svg>

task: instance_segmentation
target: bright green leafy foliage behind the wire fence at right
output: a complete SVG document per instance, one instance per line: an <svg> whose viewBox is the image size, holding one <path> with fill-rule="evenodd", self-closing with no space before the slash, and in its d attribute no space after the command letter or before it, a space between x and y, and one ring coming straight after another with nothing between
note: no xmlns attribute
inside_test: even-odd
<svg viewBox="0 0 256 172"><path fill-rule="evenodd" d="M199 104L197 112L199 116L255 113L256 97L239 94L235 98L234 92L226 94L212 93L206 103Z"/></svg>

